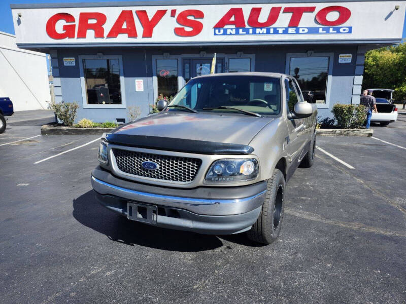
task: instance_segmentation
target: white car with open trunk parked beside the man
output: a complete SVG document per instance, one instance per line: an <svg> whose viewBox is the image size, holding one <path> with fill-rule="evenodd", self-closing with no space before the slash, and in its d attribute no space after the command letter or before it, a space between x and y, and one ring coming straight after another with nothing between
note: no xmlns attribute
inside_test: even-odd
<svg viewBox="0 0 406 304"><path fill-rule="evenodd" d="M369 89L372 96L377 100L378 113L373 112L371 123L380 123L387 126L397 120L397 107L392 103L392 92L390 89Z"/></svg>

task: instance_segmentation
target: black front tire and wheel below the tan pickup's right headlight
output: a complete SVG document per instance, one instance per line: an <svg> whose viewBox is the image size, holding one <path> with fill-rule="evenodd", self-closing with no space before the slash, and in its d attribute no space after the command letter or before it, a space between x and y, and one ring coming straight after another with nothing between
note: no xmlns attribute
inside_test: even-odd
<svg viewBox="0 0 406 304"><path fill-rule="evenodd" d="M285 178L279 169L274 169L266 185L265 200L257 221L247 232L254 242L270 244L275 242L281 232L285 201Z"/></svg>

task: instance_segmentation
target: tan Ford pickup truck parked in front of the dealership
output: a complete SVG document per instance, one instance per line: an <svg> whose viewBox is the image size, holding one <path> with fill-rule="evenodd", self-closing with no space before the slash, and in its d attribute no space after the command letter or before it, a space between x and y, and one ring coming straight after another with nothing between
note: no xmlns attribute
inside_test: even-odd
<svg viewBox="0 0 406 304"><path fill-rule="evenodd" d="M316 105L296 80L204 75L157 108L104 134L91 175L96 199L150 225L274 242L286 183L315 154Z"/></svg>

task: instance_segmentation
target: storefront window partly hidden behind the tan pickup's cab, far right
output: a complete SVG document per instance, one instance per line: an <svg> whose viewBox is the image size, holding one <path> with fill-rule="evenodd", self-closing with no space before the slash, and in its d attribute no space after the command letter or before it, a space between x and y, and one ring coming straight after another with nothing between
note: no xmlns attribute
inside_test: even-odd
<svg viewBox="0 0 406 304"><path fill-rule="evenodd" d="M289 74L299 83L304 100L326 103L329 57L291 57Z"/></svg>

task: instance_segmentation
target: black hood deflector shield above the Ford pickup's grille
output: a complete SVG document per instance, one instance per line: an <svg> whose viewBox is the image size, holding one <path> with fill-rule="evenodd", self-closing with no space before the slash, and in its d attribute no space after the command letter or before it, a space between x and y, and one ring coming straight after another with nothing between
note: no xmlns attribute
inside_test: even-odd
<svg viewBox="0 0 406 304"><path fill-rule="evenodd" d="M196 154L251 154L254 148L245 144L223 143L182 138L168 138L145 135L106 134L106 140L113 144L130 147L176 151Z"/></svg>

